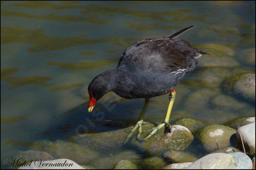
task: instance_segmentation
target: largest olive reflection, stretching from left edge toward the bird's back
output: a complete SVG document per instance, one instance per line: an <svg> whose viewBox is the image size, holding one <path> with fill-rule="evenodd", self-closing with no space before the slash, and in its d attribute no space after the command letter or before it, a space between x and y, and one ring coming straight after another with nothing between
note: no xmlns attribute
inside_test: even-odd
<svg viewBox="0 0 256 170"><path fill-rule="evenodd" d="M11 43L33 44L34 46L28 48L29 52L44 52L103 42L127 47L131 45L131 41L134 42L144 39L139 37L90 39L86 35L80 35L78 37L49 37L43 34L43 32L43 30L25 30L21 27L1 27L1 45Z"/></svg>

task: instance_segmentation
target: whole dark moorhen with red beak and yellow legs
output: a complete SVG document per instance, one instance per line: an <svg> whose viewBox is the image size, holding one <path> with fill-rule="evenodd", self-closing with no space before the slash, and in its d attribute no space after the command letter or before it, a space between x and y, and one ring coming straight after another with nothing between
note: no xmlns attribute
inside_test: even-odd
<svg viewBox="0 0 256 170"><path fill-rule="evenodd" d="M151 129L152 132L142 141L164 126L170 128L169 118L176 95L173 89L184 74L196 67L197 59L202 54L207 54L178 38L192 27L194 26L166 37L143 39L125 50L115 69L97 75L89 84L89 112L92 111L96 102L109 91L126 99L145 98L139 121L128 134L125 141L127 142L136 129L138 129L137 138L140 138L141 126L146 124L143 122L143 116L149 99L170 92L170 103L164 122Z"/></svg>

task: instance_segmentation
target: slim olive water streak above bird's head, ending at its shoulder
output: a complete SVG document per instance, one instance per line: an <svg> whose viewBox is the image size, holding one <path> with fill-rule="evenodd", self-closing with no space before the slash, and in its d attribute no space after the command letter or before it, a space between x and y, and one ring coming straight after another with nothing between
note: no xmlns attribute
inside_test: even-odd
<svg viewBox="0 0 256 170"><path fill-rule="evenodd" d="M81 71L81 70L93 70L98 67L108 66L109 64L118 62L119 58L107 58L98 61L92 62L77 62L77 63L65 63L65 62L57 62L50 61L47 62L47 65L50 66L58 66L59 68L66 69L69 71Z"/></svg>

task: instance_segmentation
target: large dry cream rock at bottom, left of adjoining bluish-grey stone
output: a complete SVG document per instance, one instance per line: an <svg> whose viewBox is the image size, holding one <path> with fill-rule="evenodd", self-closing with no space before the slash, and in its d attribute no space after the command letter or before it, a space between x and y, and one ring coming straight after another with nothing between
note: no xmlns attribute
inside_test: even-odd
<svg viewBox="0 0 256 170"><path fill-rule="evenodd" d="M198 159L186 169L236 169L236 159L230 154L212 153Z"/></svg>

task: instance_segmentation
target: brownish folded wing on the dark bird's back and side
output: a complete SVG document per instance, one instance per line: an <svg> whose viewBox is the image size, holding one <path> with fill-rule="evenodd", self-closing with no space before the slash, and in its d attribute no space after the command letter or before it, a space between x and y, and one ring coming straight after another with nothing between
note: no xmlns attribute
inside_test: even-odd
<svg viewBox="0 0 256 170"><path fill-rule="evenodd" d="M125 65L132 69L166 73L186 69L186 55L180 51L184 47L174 41L164 37L138 41L124 51L117 67ZM184 50L188 49L189 46Z"/></svg>

